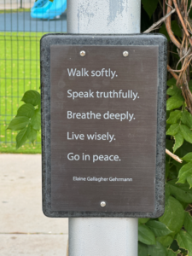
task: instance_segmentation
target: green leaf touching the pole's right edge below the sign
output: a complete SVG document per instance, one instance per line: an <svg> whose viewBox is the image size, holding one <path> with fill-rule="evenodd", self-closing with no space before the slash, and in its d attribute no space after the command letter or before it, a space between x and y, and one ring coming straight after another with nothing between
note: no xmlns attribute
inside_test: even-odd
<svg viewBox="0 0 192 256"><path fill-rule="evenodd" d="M138 241L144 244L155 244L154 233L144 224L138 224Z"/></svg>

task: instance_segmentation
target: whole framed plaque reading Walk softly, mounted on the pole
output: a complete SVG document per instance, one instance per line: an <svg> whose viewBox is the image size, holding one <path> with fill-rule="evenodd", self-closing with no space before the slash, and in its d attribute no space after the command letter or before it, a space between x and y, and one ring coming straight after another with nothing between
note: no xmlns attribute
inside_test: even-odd
<svg viewBox="0 0 192 256"><path fill-rule="evenodd" d="M166 39L98 38L42 39L44 212L160 216Z"/></svg>

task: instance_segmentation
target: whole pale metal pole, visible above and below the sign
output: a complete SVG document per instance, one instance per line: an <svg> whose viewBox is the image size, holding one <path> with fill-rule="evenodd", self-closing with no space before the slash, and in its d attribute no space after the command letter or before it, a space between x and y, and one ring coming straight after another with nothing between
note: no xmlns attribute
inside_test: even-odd
<svg viewBox="0 0 192 256"><path fill-rule="evenodd" d="M141 0L68 0L67 32L140 33ZM69 256L137 256L137 218L69 218Z"/></svg>

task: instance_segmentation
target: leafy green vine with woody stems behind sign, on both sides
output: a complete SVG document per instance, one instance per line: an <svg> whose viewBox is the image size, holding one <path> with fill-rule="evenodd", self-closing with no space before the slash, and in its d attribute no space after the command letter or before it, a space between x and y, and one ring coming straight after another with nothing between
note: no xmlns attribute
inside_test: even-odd
<svg viewBox="0 0 192 256"><path fill-rule="evenodd" d="M164 21L168 22L168 19L163 20L154 32L160 32L168 39L167 55L171 73L168 73L167 80L166 148L183 162L166 154L166 211L160 218L139 219L139 256L192 256L192 3L191 0L173 2L178 4L189 36L178 12L169 16L169 21L180 48L178 44L173 44L171 32L167 32ZM166 15L167 4L170 10L174 8L172 0L168 0L168 3L165 0L142 0L142 32ZM17 148L27 140L34 143L40 131L40 94L36 90L28 90L22 102L24 104L8 127L12 131L19 131L16 137Z"/></svg>

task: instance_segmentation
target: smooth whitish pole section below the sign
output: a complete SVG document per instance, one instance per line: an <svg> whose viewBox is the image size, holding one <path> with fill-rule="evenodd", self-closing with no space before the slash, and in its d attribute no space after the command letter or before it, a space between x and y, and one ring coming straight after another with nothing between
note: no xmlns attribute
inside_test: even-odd
<svg viewBox="0 0 192 256"><path fill-rule="evenodd" d="M70 218L70 256L137 256L137 218Z"/></svg>

